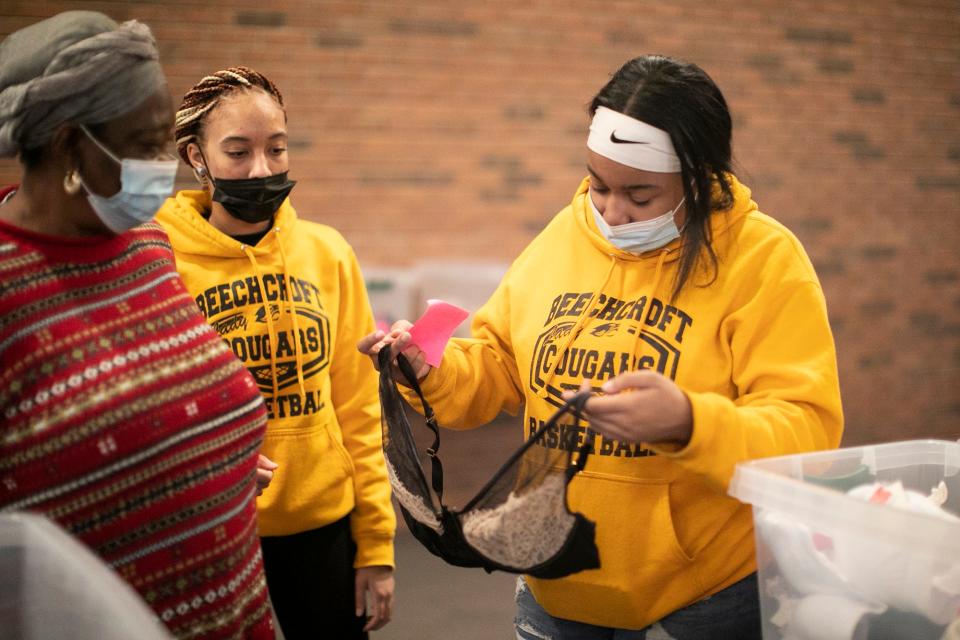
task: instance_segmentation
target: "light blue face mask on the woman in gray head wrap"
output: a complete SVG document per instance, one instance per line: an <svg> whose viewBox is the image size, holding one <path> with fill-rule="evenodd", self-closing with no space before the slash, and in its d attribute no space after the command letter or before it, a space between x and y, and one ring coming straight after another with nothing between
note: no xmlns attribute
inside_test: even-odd
<svg viewBox="0 0 960 640"><path fill-rule="evenodd" d="M123 233L152 220L163 201L173 193L177 160L172 156L167 156L169 159L121 160L94 138L86 127L81 125L80 128L107 157L120 165L120 191L109 198L98 196L82 178L80 180L87 191L87 201L100 221L114 233Z"/></svg>

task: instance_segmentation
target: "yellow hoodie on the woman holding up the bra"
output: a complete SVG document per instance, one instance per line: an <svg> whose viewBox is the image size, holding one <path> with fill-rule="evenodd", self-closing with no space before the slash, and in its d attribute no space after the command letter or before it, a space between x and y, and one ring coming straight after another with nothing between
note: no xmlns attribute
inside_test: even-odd
<svg viewBox="0 0 960 640"><path fill-rule="evenodd" d="M554 616L639 629L750 574L750 507L726 495L736 463L840 442L816 274L797 239L731 179L735 204L711 222L716 279L701 269L674 300L680 240L641 256L612 246L585 179L477 312L474 337L451 341L424 380L440 424L470 428L525 405L525 436L585 377L598 386L649 367L689 398L693 435L682 448L597 437L569 495L597 523L602 566L527 578ZM566 435L550 434L546 446ZM577 429L573 441L584 435Z"/></svg>

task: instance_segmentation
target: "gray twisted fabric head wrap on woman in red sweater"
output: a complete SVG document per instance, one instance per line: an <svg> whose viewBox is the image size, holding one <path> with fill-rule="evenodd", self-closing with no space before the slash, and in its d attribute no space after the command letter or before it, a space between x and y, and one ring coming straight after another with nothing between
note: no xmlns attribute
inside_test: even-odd
<svg viewBox="0 0 960 640"><path fill-rule="evenodd" d="M0 157L128 113L165 82L150 29L66 11L0 42Z"/></svg>

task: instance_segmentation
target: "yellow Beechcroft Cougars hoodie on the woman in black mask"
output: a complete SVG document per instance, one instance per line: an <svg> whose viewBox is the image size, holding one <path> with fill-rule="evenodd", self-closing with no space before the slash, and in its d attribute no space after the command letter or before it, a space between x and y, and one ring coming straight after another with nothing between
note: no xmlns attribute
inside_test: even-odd
<svg viewBox="0 0 960 640"><path fill-rule="evenodd" d="M255 247L208 223L204 191L157 214L201 312L260 385L269 411L262 453L280 467L257 499L260 535L350 514L355 567L393 566L396 519L381 449L376 372L357 351L374 330L353 250L334 229L298 220L284 201Z"/></svg>

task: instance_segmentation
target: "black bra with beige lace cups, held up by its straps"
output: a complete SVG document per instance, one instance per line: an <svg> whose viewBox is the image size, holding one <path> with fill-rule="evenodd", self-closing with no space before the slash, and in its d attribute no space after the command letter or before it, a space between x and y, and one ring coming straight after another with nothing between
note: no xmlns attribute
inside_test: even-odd
<svg viewBox="0 0 960 640"><path fill-rule="evenodd" d="M410 364L397 357L408 384L419 396L433 445L428 485L416 441L397 391L389 349L379 356L383 451L393 494L407 527L430 552L460 567L561 578L600 566L595 525L567 508L567 485L587 462L592 436L579 448L542 446L545 434L570 414L579 424L589 394L578 394L514 452L493 478L460 510L443 504L443 465L437 457L440 429ZM576 430L563 430L575 433ZM576 457L574 451L576 449ZM432 487L432 491L431 491Z"/></svg>

